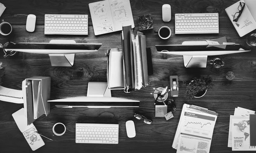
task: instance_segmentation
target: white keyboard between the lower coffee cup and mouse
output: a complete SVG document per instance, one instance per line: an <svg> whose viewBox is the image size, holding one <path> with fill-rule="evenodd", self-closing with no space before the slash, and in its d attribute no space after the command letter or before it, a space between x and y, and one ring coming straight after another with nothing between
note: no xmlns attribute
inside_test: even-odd
<svg viewBox="0 0 256 153"><path fill-rule="evenodd" d="M118 144L118 124L76 123L76 143Z"/></svg>

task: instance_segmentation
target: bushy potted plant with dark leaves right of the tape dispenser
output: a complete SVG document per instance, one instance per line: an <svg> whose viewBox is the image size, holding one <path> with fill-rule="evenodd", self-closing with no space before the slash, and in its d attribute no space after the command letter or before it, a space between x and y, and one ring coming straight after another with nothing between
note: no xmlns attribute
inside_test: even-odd
<svg viewBox="0 0 256 153"><path fill-rule="evenodd" d="M212 88L213 79L211 76L201 77L201 78L193 78L192 81L187 85L185 98L189 101L193 97L200 98L205 95L207 89Z"/></svg>

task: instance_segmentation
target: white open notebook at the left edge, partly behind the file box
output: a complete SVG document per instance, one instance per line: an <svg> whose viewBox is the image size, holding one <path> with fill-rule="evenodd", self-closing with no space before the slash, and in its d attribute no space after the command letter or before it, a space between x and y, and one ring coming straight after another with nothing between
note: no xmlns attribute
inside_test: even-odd
<svg viewBox="0 0 256 153"><path fill-rule="evenodd" d="M16 104L23 104L22 90L9 89L0 86L0 100Z"/></svg>

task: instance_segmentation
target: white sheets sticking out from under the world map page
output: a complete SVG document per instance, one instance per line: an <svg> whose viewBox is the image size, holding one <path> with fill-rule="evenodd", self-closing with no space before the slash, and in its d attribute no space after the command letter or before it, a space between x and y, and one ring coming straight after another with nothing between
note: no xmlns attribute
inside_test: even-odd
<svg viewBox="0 0 256 153"><path fill-rule="evenodd" d="M233 143L233 119L244 119L244 117L246 118L246 120L249 119L250 114L255 114L255 111L253 110L247 110L245 108L242 107L237 107L235 108L235 112L234 115L230 115L230 126L229 126L229 133L228 133L228 144L227 147L232 147L232 143ZM249 140L249 139L248 139Z"/></svg>

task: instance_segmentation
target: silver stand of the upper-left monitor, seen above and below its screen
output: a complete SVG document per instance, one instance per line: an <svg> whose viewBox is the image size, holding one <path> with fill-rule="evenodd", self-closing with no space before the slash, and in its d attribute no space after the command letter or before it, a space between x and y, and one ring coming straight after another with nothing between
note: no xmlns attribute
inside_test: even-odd
<svg viewBox="0 0 256 153"><path fill-rule="evenodd" d="M75 40L51 40L50 43L76 43ZM49 54L52 66L73 66L75 54Z"/></svg>

